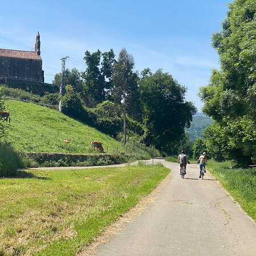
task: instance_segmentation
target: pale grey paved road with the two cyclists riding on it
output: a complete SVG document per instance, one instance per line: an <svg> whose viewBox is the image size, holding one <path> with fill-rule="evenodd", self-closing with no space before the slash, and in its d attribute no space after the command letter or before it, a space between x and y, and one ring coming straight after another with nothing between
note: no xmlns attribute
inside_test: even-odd
<svg viewBox="0 0 256 256"><path fill-rule="evenodd" d="M96 255L256 255L256 228L209 173L198 179L189 164L165 162L171 175L154 203L125 229L100 245Z"/></svg>

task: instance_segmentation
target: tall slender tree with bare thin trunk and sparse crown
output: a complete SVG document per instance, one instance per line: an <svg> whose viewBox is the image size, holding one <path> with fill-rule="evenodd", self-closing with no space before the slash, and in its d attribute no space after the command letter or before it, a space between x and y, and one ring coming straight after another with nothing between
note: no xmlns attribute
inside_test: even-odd
<svg viewBox="0 0 256 256"><path fill-rule="evenodd" d="M134 59L125 48L119 52L118 61L113 68L112 98L118 104L122 104L123 113L123 143L126 144L126 113L127 104L133 102L134 91L137 90L137 75L133 72ZM135 104L135 102L133 102Z"/></svg>

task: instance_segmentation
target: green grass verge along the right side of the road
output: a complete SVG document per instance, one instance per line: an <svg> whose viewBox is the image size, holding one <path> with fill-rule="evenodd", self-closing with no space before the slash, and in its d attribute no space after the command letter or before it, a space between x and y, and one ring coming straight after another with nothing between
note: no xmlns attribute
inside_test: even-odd
<svg viewBox="0 0 256 256"><path fill-rule="evenodd" d="M208 170L249 216L256 220L256 170L231 167L231 162L208 161Z"/></svg>

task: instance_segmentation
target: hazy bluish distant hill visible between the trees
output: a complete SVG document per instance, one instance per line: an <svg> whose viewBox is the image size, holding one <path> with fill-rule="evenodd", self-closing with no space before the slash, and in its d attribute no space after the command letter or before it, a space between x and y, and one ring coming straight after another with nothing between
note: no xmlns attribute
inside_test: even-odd
<svg viewBox="0 0 256 256"><path fill-rule="evenodd" d="M189 140L195 141L195 139L198 137L202 138L203 130L211 123L212 119L203 113L197 112L195 115L193 115L191 126L188 129L185 129L185 131L188 133Z"/></svg>

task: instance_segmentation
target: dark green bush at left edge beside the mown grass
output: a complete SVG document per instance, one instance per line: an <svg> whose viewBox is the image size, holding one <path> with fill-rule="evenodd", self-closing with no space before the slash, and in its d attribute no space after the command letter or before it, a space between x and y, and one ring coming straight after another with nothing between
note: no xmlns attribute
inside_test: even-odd
<svg viewBox="0 0 256 256"><path fill-rule="evenodd" d="M0 144L0 177L15 176L24 163L20 155L9 144Z"/></svg>

